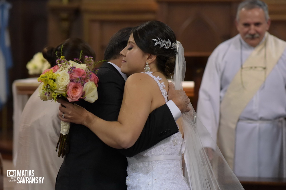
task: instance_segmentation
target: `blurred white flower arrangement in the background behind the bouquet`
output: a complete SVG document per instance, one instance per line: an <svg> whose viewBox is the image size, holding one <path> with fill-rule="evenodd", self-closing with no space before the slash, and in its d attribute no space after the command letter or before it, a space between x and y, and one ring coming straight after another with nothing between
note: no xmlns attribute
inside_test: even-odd
<svg viewBox="0 0 286 190"><path fill-rule="evenodd" d="M27 63L26 68L29 71L29 75L38 75L41 74L44 70L51 68L51 65L43 57L42 52L38 52Z"/></svg>

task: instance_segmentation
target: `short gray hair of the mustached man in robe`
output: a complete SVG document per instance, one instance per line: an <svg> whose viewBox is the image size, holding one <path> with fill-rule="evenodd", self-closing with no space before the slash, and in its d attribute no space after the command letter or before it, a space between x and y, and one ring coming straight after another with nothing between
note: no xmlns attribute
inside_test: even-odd
<svg viewBox="0 0 286 190"><path fill-rule="evenodd" d="M268 13L268 6L263 1L259 0L246 0L241 2L238 5L237 13L236 13L236 20L239 21L239 13L242 9L250 10L254 8L261 8L264 11L266 21L269 20L269 13Z"/></svg>

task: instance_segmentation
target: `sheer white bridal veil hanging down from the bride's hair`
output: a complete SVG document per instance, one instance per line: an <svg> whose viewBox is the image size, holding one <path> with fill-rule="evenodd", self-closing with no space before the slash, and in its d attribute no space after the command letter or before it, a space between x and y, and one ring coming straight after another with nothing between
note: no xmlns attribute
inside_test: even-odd
<svg viewBox="0 0 286 190"><path fill-rule="evenodd" d="M175 89L183 89L186 61L182 44L176 43L177 55L172 82ZM184 131L182 152L184 176L192 190L240 190L241 183L227 164L206 127L196 115L193 107L182 114L180 127ZM206 151L208 147L210 152Z"/></svg>

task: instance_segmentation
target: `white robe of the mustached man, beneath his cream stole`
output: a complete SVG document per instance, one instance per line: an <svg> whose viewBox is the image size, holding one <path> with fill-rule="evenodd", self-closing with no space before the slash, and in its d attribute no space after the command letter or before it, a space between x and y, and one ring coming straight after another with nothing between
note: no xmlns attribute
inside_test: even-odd
<svg viewBox="0 0 286 190"><path fill-rule="evenodd" d="M254 49L238 34L221 43L208 59L200 85L197 114L215 142L221 101L238 72L241 72L243 85L243 72L246 71L241 67ZM258 72L264 77L263 69ZM237 122L233 170L238 177L286 177L283 171L285 117L286 49Z"/></svg>

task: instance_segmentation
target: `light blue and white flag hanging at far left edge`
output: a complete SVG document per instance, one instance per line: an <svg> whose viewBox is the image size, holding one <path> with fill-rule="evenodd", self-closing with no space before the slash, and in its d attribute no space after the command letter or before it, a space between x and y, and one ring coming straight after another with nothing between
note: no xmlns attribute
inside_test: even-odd
<svg viewBox="0 0 286 190"><path fill-rule="evenodd" d="M13 65L8 32L9 9L10 3L0 1L0 110L9 96L9 69Z"/></svg>

